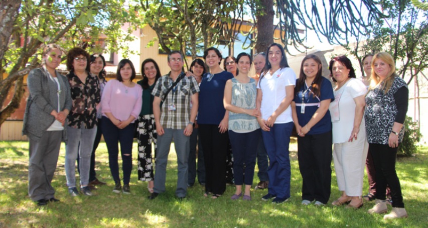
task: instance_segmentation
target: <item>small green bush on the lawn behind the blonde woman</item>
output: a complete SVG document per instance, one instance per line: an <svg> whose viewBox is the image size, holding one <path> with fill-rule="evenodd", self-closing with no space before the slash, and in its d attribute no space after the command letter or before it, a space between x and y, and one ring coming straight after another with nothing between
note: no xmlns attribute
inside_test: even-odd
<svg viewBox="0 0 428 228"><path fill-rule="evenodd" d="M399 156L409 157L413 156L417 153L420 146L417 144L420 142L422 138L422 134L420 134L419 125L417 122L413 122L411 117L406 117L404 121L404 138L403 142L398 147Z"/></svg>

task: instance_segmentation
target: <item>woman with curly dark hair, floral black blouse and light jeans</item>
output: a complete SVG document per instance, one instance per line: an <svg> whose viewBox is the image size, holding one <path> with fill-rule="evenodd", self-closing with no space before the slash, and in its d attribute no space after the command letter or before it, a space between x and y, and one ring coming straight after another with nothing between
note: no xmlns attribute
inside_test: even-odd
<svg viewBox="0 0 428 228"><path fill-rule="evenodd" d="M65 174L68 192L79 195L76 188L76 158L79 154L80 188L84 195L92 195L88 186L92 147L97 131L96 106L101 100L97 76L90 73L89 54L73 48L67 54L67 74L70 82L72 108L68 115L68 141L65 146Z"/></svg>

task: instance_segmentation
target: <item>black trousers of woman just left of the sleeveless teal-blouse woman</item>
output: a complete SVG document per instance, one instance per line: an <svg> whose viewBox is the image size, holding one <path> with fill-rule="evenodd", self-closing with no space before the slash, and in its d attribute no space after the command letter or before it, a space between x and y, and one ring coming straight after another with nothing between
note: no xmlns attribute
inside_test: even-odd
<svg viewBox="0 0 428 228"><path fill-rule="evenodd" d="M204 148L205 191L221 195L226 190L226 154L229 144L227 131L218 125L199 125L199 137Z"/></svg>

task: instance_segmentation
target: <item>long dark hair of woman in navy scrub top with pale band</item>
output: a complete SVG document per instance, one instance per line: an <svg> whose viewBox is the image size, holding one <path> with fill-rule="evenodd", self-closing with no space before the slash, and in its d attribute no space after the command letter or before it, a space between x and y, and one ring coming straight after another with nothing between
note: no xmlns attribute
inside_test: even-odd
<svg viewBox="0 0 428 228"><path fill-rule="evenodd" d="M305 56L305 58L303 58L302 64L300 65L299 79L297 80L296 87L294 88L294 94L297 95L300 91L300 88L302 88L305 85L306 74L303 71L303 64L308 59L313 59L315 62L318 63L319 66L321 66L318 69L317 75L315 75L315 79L311 84L312 85L312 89L311 89L312 96L313 97L320 96L320 94L321 94L321 81L323 79L323 75L322 75L323 74L323 63L321 62L321 59L314 54L307 55L307 56ZM311 85L308 85L308 86L311 86Z"/></svg>

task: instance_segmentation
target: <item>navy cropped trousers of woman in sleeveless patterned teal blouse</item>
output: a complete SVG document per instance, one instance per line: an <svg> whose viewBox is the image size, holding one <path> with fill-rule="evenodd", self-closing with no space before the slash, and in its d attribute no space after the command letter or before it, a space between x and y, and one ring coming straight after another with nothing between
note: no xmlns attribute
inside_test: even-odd
<svg viewBox="0 0 428 228"><path fill-rule="evenodd" d="M259 129L247 133L236 133L229 130L235 185L242 185L242 183L252 185L259 137Z"/></svg>

